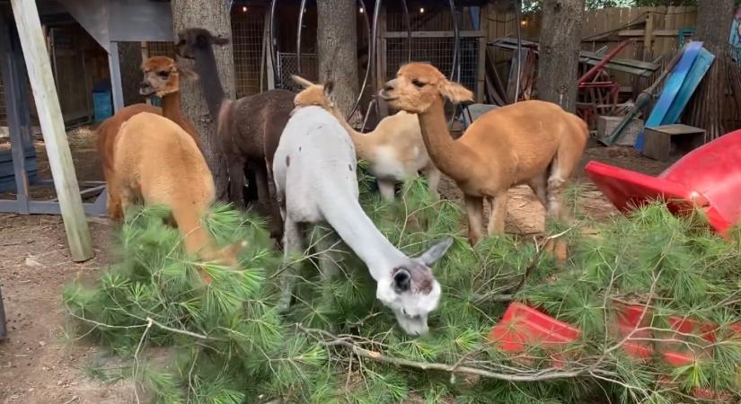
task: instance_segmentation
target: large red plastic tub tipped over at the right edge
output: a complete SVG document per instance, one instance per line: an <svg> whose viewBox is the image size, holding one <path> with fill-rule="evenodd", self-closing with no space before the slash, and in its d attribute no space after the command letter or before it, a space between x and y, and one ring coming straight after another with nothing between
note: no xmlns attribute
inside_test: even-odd
<svg viewBox="0 0 741 404"><path fill-rule="evenodd" d="M699 208L724 234L741 218L741 130L686 154L658 177L589 162L587 175L621 212L664 200L675 214Z"/></svg>

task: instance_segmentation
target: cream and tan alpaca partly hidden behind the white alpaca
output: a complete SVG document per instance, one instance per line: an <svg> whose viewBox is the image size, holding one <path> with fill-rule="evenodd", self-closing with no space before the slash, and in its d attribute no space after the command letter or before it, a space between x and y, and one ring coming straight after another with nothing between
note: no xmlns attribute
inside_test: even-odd
<svg viewBox="0 0 741 404"><path fill-rule="evenodd" d="M357 157L370 163L370 171L378 180L378 189L384 198L393 199L395 183L417 178L419 172L428 178L432 198L439 198L440 171L429 158L416 115L402 110L382 119L373 132L363 134L349 126L331 101L331 82L314 84L297 75L293 79L304 87L304 91L296 95L296 107L316 105L330 111L340 121L355 144Z"/></svg>

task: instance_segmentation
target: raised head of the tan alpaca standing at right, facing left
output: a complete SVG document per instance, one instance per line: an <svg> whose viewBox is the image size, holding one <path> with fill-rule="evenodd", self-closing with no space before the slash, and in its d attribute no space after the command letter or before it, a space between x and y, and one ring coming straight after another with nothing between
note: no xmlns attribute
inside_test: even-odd
<svg viewBox="0 0 741 404"><path fill-rule="evenodd" d="M384 84L380 95L393 108L416 114L427 112L443 97L456 103L473 101L473 92L448 81L435 66L424 63L401 66L396 78Z"/></svg>

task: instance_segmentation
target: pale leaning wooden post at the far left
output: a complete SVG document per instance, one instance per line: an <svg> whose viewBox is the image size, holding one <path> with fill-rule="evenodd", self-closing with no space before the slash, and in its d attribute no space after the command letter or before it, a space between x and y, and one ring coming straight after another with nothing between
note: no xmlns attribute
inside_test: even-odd
<svg viewBox="0 0 741 404"><path fill-rule="evenodd" d="M39 10L34 1L11 0L11 5L18 36L21 38L36 110L39 112L41 132L65 223L70 256L76 262L92 259L94 254L90 230L85 221L83 200L66 140L65 123L59 107L57 87L51 75L51 64L41 30Z"/></svg>

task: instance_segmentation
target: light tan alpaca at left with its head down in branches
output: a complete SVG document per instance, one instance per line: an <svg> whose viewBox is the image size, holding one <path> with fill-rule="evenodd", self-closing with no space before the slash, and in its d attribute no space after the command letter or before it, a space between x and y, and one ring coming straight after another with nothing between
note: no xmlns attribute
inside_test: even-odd
<svg viewBox="0 0 741 404"><path fill-rule="evenodd" d="M113 145L111 196L120 206L163 205L185 238L185 250L201 259L236 264L233 247L216 250L201 225L214 202L214 180L192 137L170 119L141 112L121 126Z"/></svg>

